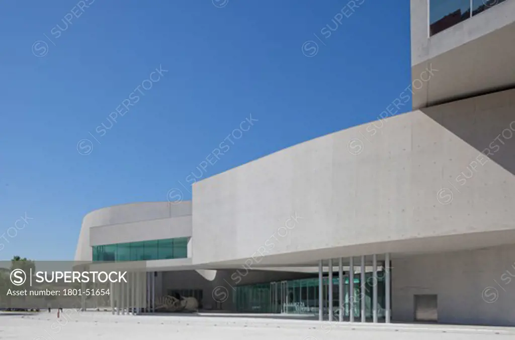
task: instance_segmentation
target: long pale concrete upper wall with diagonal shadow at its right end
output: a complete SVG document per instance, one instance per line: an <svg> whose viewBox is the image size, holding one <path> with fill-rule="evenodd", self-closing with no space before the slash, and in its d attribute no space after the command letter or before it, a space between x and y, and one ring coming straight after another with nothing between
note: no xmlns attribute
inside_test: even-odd
<svg viewBox="0 0 515 340"><path fill-rule="evenodd" d="M505 129L513 136L514 111L513 90L452 102L319 137L197 182L193 263L244 261L260 247L262 264L283 254L300 262L371 249L450 250L456 243L439 238L453 235L486 246L489 233L515 230L515 138L495 140ZM493 159L487 163L485 149ZM451 193L450 204L439 203ZM278 236L296 211L302 219ZM514 235L488 245L515 242ZM458 244L469 246L465 238ZM335 251L322 253L328 249Z"/></svg>

